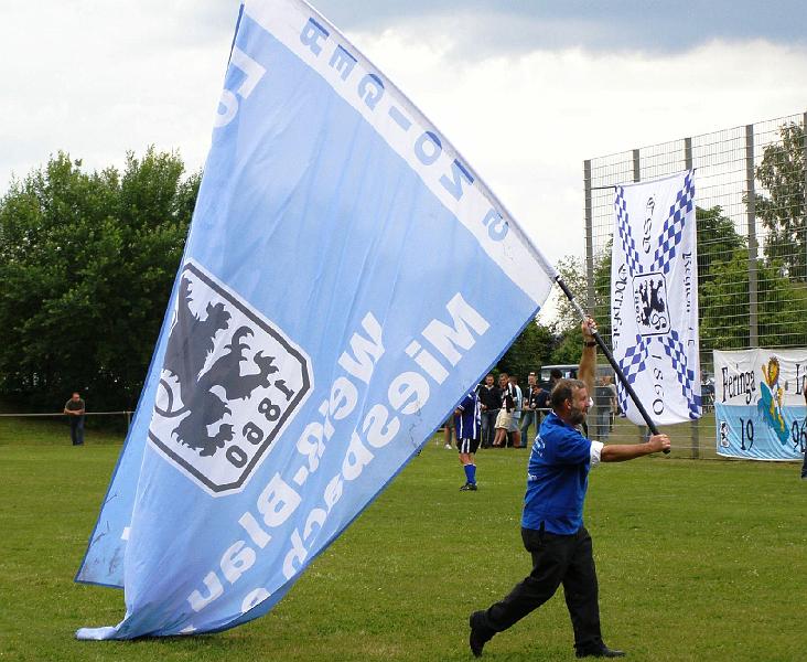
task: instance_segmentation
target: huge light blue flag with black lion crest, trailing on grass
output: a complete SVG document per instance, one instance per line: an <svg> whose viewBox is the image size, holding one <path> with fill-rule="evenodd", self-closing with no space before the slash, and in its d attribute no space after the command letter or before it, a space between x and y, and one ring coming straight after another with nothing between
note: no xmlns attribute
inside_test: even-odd
<svg viewBox="0 0 807 662"><path fill-rule="evenodd" d="M241 7L198 202L79 581L117 627L266 613L416 455L556 271L306 3Z"/></svg>

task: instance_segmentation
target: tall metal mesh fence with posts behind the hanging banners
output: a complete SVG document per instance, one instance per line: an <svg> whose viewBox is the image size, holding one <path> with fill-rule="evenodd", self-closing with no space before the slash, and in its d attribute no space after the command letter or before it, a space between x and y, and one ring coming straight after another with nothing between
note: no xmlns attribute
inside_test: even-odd
<svg viewBox="0 0 807 662"><path fill-rule="evenodd" d="M696 169L700 356L707 415L674 426L691 457L713 456L712 351L807 346L807 113L584 162L588 308L610 318L615 184ZM611 342L610 324L602 324ZM686 429L687 426L689 429ZM617 421L632 440L635 426ZM688 446L686 439L689 440Z"/></svg>

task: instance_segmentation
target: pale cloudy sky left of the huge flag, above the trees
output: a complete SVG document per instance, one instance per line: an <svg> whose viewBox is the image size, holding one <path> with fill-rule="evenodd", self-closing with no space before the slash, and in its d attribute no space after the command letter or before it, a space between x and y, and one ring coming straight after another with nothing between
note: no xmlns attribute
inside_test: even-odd
<svg viewBox="0 0 807 662"><path fill-rule="evenodd" d="M238 2L36 2L0 24L0 184L65 150L89 168L127 150L209 143Z"/></svg>

